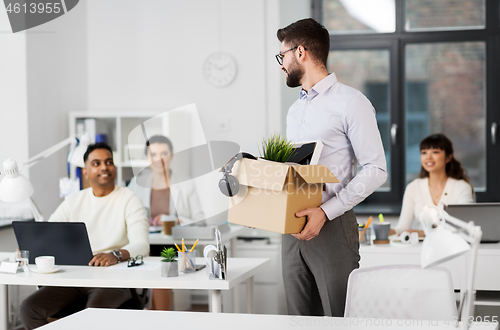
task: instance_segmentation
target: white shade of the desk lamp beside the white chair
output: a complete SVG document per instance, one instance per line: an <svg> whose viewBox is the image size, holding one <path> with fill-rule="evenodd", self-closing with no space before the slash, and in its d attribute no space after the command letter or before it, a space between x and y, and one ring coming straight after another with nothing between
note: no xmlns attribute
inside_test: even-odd
<svg viewBox="0 0 500 330"><path fill-rule="evenodd" d="M438 227L430 232L422 244L422 268L436 266L470 250L467 241L457 233Z"/></svg>

